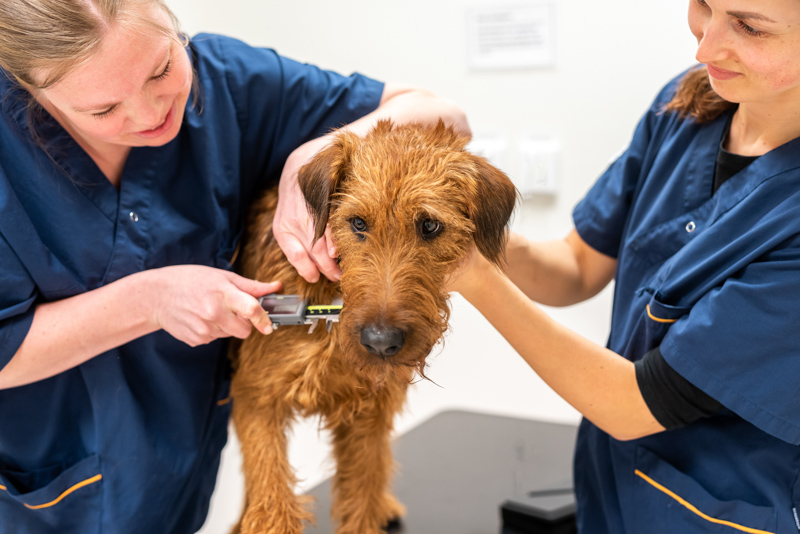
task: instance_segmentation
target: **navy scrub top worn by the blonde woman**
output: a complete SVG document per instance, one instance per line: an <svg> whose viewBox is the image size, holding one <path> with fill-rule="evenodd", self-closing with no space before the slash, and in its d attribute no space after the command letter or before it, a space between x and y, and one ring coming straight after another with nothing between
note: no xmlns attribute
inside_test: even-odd
<svg viewBox="0 0 800 534"><path fill-rule="evenodd" d="M170 143L131 150L119 191L52 119L48 157L0 72L0 368L37 303L166 265L229 269L254 193L383 92L229 38L189 52L199 105ZM0 391L0 533L197 531L226 441L226 348L160 331Z"/></svg>

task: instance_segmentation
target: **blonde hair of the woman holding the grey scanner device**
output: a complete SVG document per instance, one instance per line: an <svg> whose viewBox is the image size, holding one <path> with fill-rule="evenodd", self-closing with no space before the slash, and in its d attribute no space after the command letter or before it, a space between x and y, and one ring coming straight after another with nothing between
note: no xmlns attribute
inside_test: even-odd
<svg viewBox="0 0 800 534"><path fill-rule="evenodd" d="M164 10L171 27L134 9L148 6ZM187 44L163 0L0 0L0 67L28 89L45 89L88 61L118 22L141 23Z"/></svg>

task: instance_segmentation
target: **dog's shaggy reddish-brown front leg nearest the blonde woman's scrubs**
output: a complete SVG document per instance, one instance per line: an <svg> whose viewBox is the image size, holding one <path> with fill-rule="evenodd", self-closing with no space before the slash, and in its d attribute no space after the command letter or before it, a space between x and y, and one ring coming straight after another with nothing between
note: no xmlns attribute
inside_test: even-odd
<svg viewBox="0 0 800 534"><path fill-rule="evenodd" d="M234 379L235 382L235 379ZM241 442L246 504L237 534L300 534L313 516L294 493L295 477L286 451L288 407L266 408L234 384L233 421Z"/></svg>

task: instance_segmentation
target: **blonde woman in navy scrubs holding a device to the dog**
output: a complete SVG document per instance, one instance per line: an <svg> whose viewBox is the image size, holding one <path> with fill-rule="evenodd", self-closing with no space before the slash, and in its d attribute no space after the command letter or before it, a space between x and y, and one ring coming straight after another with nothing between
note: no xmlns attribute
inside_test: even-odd
<svg viewBox="0 0 800 534"><path fill-rule="evenodd" d="M162 0L0 2L0 533L195 532L230 336L279 283L230 272L248 202L311 248L297 169L350 123L461 111L421 90L180 34Z"/></svg>

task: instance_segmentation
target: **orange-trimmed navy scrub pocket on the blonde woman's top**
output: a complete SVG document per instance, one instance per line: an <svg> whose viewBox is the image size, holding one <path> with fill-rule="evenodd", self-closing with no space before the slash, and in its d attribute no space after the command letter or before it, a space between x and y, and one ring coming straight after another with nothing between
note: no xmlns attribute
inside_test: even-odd
<svg viewBox="0 0 800 534"><path fill-rule="evenodd" d="M0 534L98 533L102 478L97 455L60 473L0 470ZM49 482L39 486L42 480Z"/></svg>

